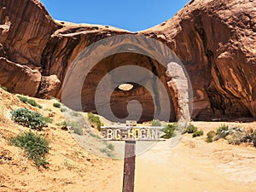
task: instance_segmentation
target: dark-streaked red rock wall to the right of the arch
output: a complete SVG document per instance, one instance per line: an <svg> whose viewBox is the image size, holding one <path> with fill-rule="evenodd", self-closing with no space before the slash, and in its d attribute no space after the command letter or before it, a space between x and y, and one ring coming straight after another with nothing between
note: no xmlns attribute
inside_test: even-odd
<svg viewBox="0 0 256 192"><path fill-rule="evenodd" d="M165 41L186 67L194 119L255 117L256 3L191 1L143 34Z"/></svg>

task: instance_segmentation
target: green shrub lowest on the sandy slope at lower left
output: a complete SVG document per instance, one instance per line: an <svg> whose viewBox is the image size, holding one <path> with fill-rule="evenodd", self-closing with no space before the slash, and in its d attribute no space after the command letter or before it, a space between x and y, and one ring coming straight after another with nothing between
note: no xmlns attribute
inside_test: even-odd
<svg viewBox="0 0 256 192"><path fill-rule="evenodd" d="M33 160L36 166L45 167L49 164L45 159L45 154L49 152L49 141L44 136L26 131L12 137L10 143L22 148L26 156Z"/></svg>

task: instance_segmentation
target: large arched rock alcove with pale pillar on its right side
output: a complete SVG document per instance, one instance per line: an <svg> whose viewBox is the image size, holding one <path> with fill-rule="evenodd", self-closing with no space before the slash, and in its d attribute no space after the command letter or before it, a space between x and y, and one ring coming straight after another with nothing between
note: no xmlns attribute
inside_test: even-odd
<svg viewBox="0 0 256 192"><path fill-rule="evenodd" d="M114 73L113 79L113 70L122 67L126 68ZM105 81L108 84L98 90L103 78L102 84ZM116 90L119 84L129 83L125 79L136 85L128 94ZM103 102L107 90L112 95ZM96 91L102 91L98 101ZM61 95L61 101L76 110L98 113L97 106L108 106L120 121L131 118L124 106L132 100L140 101L143 107L142 115L137 116L139 121L156 118L188 121L192 112L191 98L188 75L171 49L153 38L126 34L104 38L84 49L67 70Z"/></svg>

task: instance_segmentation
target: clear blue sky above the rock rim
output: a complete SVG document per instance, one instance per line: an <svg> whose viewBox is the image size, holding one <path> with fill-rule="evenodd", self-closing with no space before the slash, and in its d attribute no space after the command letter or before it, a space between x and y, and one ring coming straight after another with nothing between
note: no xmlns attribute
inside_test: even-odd
<svg viewBox="0 0 256 192"><path fill-rule="evenodd" d="M137 32L172 18L189 0L41 0L55 20L117 26Z"/></svg>

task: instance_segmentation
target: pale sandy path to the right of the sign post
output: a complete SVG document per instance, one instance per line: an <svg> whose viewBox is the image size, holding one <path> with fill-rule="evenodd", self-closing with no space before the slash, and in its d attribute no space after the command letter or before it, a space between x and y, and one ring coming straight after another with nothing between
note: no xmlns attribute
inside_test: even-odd
<svg viewBox="0 0 256 192"><path fill-rule="evenodd" d="M256 150L183 137L137 157L137 192L256 191Z"/></svg>

